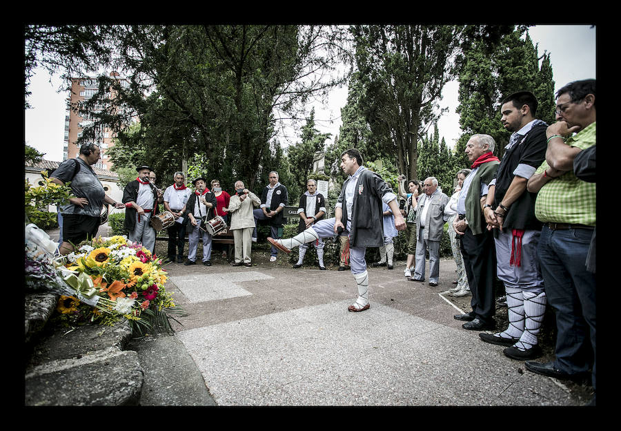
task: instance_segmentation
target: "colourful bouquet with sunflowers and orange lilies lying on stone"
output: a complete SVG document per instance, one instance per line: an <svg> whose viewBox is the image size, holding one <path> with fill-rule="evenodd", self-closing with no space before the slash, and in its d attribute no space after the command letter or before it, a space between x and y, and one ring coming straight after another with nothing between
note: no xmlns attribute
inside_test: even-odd
<svg viewBox="0 0 621 431"><path fill-rule="evenodd" d="M182 313L166 291L161 259L125 236L93 238L67 256L47 260L44 253L28 253L28 244L26 249L27 285L30 274L32 285L61 294L57 311L64 319L80 316L112 325L126 318L142 334L171 332L168 319Z"/></svg>

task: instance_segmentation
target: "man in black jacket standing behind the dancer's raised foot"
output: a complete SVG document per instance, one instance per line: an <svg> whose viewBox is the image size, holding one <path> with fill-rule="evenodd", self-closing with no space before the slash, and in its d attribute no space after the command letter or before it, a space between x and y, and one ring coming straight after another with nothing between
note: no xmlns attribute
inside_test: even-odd
<svg viewBox="0 0 621 431"><path fill-rule="evenodd" d="M261 207L255 209L255 230L253 231L253 242L257 242L257 222L258 220L268 220L271 238L280 238L282 235L282 211L284 211L288 196L287 188L278 182L278 173L269 173L269 184L265 186L261 193ZM278 249L272 246L270 250L270 262L275 262Z"/></svg>

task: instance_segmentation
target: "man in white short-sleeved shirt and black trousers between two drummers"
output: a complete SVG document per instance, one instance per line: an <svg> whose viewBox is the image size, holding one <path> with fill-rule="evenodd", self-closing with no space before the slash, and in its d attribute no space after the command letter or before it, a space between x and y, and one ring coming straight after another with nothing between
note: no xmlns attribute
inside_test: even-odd
<svg viewBox="0 0 621 431"><path fill-rule="evenodd" d="M186 224L184 223L184 211L186 202L192 191L186 187L186 175L177 171L172 176L174 183L164 191L164 208L175 216L175 222L168 228L168 260L177 263L184 262L184 245L186 243ZM175 253L175 247L177 253Z"/></svg>

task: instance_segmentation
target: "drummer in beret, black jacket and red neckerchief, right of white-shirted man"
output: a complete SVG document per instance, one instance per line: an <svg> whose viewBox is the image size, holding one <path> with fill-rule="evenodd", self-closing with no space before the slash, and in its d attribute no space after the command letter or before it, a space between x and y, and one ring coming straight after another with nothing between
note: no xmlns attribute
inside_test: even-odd
<svg viewBox="0 0 621 431"><path fill-rule="evenodd" d="M196 251L198 248L199 236L203 238L203 265L211 266L211 235L206 230L206 224L214 218L214 209L217 201L213 192L207 188L205 178L197 178L193 181L195 191L190 194L186 202L184 211L185 222L190 223L190 233L188 235L188 260L184 265L196 264Z"/></svg>

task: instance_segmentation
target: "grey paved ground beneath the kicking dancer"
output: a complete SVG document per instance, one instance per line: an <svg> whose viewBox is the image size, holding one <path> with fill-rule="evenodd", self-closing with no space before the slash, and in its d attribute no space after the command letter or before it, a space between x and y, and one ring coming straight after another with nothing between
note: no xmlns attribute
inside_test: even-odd
<svg viewBox="0 0 621 431"><path fill-rule="evenodd" d="M284 257L279 257L284 260ZM368 268L371 308L352 313L350 271L213 261L166 265L186 316L174 336L137 341L142 405L581 405L462 329L440 285Z"/></svg>

